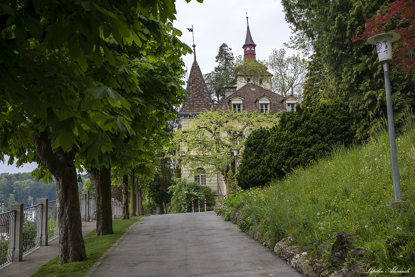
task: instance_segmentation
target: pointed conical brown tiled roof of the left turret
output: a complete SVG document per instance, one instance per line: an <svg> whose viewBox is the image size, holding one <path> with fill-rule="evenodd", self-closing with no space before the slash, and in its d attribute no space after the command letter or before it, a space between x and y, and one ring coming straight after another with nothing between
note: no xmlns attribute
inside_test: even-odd
<svg viewBox="0 0 415 277"><path fill-rule="evenodd" d="M210 108L213 105L210 93L207 90L205 79L203 78L202 71L200 71L198 62L193 62L190 69L189 80L187 82L187 91L189 95L186 96L186 102L179 110L179 113L201 113L204 110Z"/></svg>

